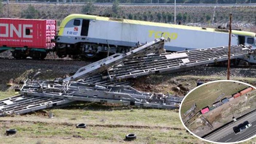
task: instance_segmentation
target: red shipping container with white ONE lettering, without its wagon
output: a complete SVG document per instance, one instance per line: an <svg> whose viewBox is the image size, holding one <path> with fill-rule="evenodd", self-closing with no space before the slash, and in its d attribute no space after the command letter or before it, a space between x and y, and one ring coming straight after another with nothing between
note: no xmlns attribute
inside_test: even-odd
<svg viewBox="0 0 256 144"><path fill-rule="evenodd" d="M0 47L53 48L56 20L0 18Z"/></svg>

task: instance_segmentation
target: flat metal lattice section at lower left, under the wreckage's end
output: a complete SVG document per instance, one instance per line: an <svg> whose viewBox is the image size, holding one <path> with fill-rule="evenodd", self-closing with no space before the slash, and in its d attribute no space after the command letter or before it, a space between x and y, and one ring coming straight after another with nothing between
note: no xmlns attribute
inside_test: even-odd
<svg viewBox="0 0 256 144"><path fill-rule="evenodd" d="M15 96L0 100L0 116L7 114L24 114L70 102L73 101L36 96Z"/></svg>

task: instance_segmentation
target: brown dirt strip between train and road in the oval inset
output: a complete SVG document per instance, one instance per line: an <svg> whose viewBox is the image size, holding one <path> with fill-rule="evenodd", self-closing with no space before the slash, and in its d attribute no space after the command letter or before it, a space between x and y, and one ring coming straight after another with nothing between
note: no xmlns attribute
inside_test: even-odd
<svg viewBox="0 0 256 144"><path fill-rule="evenodd" d="M240 96L233 101L221 105L220 107L203 114L203 116L213 125L213 129L207 127L200 118L197 118L188 128L198 136L203 136L206 133L213 131L233 120L233 117L241 117L256 109L256 90L248 93L250 96Z"/></svg>

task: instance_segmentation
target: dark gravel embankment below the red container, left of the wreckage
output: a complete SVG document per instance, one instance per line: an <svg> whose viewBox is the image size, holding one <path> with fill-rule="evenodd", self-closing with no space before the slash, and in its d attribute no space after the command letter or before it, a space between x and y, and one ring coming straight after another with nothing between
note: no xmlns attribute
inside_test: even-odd
<svg viewBox="0 0 256 144"><path fill-rule="evenodd" d="M0 59L0 90L6 90L9 79L20 79L34 75L37 71L40 79L54 79L77 71L88 65L85 61L35 61Z"/></svg>

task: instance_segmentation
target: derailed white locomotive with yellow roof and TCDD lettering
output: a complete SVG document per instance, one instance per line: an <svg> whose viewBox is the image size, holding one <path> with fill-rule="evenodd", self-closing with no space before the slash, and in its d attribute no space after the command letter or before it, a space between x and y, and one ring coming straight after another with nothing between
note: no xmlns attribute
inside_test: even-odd
<svg viewBox="0 0 256 144"><path fill-rule="evenodd" d="M255 35L254 32L232 30L231 44L255 48ZM137 44L161 36L171 40L165 44L166 50L183 51L227 46L229 30L72 14L63 19L55 48L59 57L78 54L86 58L102 57L108 51L112 54L127 52ZM256 62L251 56L241 59L244 59L241 63Z"/></svg>

